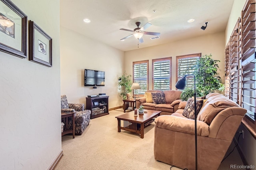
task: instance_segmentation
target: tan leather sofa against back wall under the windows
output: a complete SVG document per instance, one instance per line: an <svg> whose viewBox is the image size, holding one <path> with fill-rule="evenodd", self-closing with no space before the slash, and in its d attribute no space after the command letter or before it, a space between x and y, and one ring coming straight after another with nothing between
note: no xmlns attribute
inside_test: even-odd
<svg viewBox="0 0 256 170"><path fill-rule="evenodd" d="M182 93L181 91L177 90L166 90L163 91L166 104L155 104L152 101L147 102L148 96L147 93L155 93L155 92L162 92L161 90L147 90L145 93L144 97L136 98L136 108L139 108L140 105L144 106L144 109L148 110L159 110L162 111L160 115L164 114L172 114L176 110L178 110L178 105L181 102L180 99L180 94Z"/></svg>

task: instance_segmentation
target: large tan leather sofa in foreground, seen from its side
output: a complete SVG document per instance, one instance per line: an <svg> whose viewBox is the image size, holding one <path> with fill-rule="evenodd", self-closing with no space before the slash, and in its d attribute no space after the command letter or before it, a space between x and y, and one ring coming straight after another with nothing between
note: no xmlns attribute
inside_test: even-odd
<svg viewBox="0 0 256 170"><path fill-rule="evenodd" d="M197 116L198 170L217 170L232 139L246 114L232 100L222 94L206 96ZM186 102L180 102L172 115L155 119L154 156L170 165L195 169L194 120L182 112Z"/></svg>

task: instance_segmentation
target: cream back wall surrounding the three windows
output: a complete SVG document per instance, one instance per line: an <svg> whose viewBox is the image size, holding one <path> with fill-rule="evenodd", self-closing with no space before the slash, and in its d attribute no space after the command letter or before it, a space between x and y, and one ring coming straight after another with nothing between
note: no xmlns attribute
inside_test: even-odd
<svg viewBox="0 0 256 170"><path fill-rule="evenodd" d="M218 73L224 83L224 32L208 34L196 38L180 40L158 46L141 48L125 52L125 70L132 75L132 62L149 60L149 90L152 90L152 59L172 57L172 90L176 84L176 56L202 53L212 54L212 58L220 60Z"/></svg>

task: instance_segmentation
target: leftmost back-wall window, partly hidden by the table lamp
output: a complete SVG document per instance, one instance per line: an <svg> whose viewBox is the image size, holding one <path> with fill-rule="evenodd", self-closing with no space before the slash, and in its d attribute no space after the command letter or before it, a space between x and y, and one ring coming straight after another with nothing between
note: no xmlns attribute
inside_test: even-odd
<svg viewBox="0 0 256 170"><path fill-rule="evenodd" d="M133 82L140 84L136 94L144 94L148 90L148 60L133 62Z"/></svg>

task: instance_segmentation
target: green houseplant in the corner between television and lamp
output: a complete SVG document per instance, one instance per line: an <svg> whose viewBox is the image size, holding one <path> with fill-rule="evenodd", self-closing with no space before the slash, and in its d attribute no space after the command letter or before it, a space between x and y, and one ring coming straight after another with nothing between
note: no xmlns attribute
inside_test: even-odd
<svg viewBox="0 0 256 170"><path fill-rule="evenodd" d="M130 79L132 76L127 75L126 72L122 76L118 78L118 90L120 91L120 96L123 99L126 99L126 94L132 92L131 86L132 86L132 80Z"/></svg>

